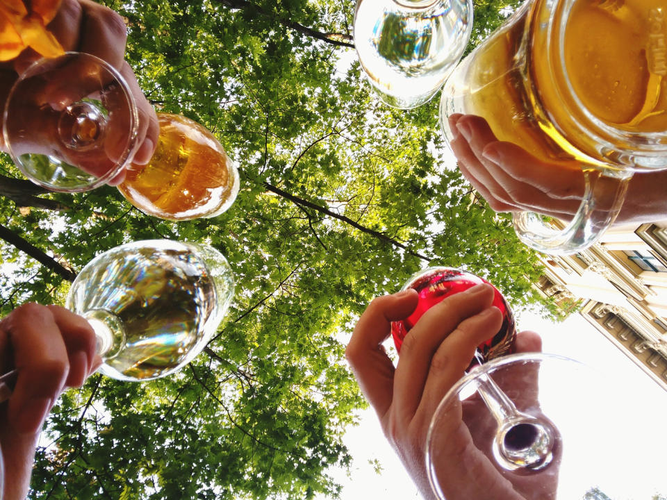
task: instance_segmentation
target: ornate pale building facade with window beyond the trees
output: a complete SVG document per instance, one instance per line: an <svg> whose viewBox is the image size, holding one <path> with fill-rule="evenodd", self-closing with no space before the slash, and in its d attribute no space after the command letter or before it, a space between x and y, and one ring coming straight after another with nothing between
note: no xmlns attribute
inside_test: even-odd
<svg viewBox="0 0 667 500"><path fill-rule="evenodd" d="M546 256L534 286L579 314L667 390L667 221L611 228L571 256Z"/></svg>

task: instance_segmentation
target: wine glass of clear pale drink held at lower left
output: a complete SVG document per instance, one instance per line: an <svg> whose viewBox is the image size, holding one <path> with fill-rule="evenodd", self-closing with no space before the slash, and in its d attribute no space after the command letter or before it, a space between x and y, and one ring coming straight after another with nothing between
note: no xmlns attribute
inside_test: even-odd
<svg viewBox="0 0 667 500"><path fill-rule="evenodd" d="M233 293L233 273L219 251L145 240L91 260L65 306L92 326L102 374L148 381L176 372L206 347Z"/></svg>

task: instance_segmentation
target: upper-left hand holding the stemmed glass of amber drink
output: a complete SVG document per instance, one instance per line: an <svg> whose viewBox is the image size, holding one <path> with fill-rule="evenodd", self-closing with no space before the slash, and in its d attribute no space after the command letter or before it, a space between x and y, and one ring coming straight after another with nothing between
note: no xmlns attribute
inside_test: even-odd
<svg viewBox="0 0 667 500"><path fill-rule="evenodd" d="M139 114L138 149L133 162L140 165L148 163L158 140L158 119L154 109L139 88L131 67L124 61L126 28L122 17L113 10L90 0L63 0L58 14L49 23L47 29L56 36L65 51L79 51L97 56L115 67L124 77L135 98ZM14 60L0 65L0 102L6 102L10 88L19 74L25 72L40 57L32 49L26 49ZM71 81L72 74L79 75L78 84L85 86L86 68L83 65L68 68L63 77L67 76ZM71 91L65 85L64 80L61 87L63 94ZM38 118L33 117L33 119ZM42 130L42 127L35 124L28 130L35 130L37 133ZM126 133L126 131L122 132ZM117 185L123 179L124 172L115 176L109 183Z"/></svg>

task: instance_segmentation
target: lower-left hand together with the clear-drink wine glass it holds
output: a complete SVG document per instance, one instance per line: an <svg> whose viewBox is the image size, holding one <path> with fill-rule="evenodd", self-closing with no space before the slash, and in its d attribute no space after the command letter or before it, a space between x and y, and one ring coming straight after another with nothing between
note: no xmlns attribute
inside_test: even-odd
<svg viewBox="0 0 667 500"><path fill-rule="evenodd" d="M40 429L65 387L81 386L97 367L123 381L176 372L204 349L233 290L231 267L217 250L148 240L90 261L72 283L67 309L26 304L3 319L4 500L25 497Z"/></svg>

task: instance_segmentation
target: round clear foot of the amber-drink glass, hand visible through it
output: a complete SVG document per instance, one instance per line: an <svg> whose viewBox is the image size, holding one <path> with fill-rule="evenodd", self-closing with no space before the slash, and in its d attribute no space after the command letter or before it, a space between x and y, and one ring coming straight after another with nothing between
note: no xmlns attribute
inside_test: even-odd
<svg viewBox="0 0 667 500"><path fill-rule="evenodd" d="M72 78L76 75L76 78ZM3 139L19 169L52 191L110 181L137 146L138 112L126 82L95 56L40 59L11 88Z"/></svg>

